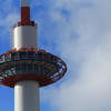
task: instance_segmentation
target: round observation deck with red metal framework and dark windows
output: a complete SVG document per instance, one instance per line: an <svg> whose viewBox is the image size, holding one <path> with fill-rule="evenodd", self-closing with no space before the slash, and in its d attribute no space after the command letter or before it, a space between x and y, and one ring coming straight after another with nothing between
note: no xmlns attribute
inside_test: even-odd
<svg viewBox="0 0 111 111"><path fill-rule="evenodd" d="M0 56L0 84L10 88L22 80L34 80L44 87L57 82L65 71L65 63L44 50L21 48Z"/></svg>

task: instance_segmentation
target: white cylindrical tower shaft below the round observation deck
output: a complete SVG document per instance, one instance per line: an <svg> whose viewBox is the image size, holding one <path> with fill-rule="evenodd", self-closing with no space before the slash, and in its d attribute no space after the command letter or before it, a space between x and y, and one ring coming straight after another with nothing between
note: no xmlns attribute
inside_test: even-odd
<svg viewBox="0 0 111 111"><path fill-rule="evenodd" d="M20 81L14 85L14 111L40 111L39 83Z"/></svg>

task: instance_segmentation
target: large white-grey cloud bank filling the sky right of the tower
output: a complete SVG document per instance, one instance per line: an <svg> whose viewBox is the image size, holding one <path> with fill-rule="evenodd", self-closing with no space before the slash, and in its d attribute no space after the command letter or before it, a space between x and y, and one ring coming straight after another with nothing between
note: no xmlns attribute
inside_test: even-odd
<svg viewBox="0 0 111 111"><path fill-rule="evenodd" d="M110 4L110 0L51 1L49 18L57 23L53 31L58 29L52 41L68 63L64 78L71 77L59 88L42 89L42 101L49 101L53 111L111 110Z"/></svg>

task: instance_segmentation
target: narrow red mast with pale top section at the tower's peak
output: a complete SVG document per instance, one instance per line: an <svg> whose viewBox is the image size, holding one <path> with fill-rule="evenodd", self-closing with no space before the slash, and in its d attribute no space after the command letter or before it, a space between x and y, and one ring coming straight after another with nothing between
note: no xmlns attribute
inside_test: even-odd
<svg viewBox="0 0 111 111"><path fill-rule="evenodd" d="M21 22L30 22L30 2L29 0L20 0L21 2Z"/></svg>

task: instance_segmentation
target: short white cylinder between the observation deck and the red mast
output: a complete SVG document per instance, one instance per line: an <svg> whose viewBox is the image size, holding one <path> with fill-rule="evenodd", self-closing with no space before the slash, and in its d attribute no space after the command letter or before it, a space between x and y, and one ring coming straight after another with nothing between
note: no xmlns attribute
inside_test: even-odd
<svg viewBox="0 0 111 111"><path fill-rule="evenodd" d="M38 49L37 27L20 26L12 31L12 48L19 50L21 48Z"/></svg>

